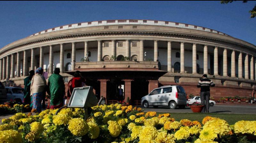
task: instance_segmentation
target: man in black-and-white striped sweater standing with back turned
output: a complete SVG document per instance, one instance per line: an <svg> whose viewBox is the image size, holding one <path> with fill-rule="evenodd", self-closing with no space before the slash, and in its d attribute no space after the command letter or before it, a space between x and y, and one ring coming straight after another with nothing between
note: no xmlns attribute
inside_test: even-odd
<svg viewBox="0 0 256 143"><path fill-rule="evenodd" d="M207 75L204 74L203 75L203 79L200 79L198 84L197 84L197 87L201 87L201 90L200 90L200 99L201 99L201 103L202 105L205 105L204 106L204 109L202 112L206 112L206 113L209 113L209 106L210 106L210 103L209 103L209 100L210 100L210 86L211 87L214 87L215 84L212 82L211 79L207 79ZM204 101L205 100L205 101Z"/></svg>

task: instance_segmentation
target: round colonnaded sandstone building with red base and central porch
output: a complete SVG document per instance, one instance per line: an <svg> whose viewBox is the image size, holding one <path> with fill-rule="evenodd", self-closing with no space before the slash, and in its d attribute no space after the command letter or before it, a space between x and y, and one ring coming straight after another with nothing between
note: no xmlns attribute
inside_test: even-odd
<svg viewBox="0 0 256 143"><path fill-rule="evenodd" d="M105 20L47 29L0 49L0 79L23 87L29 70L59 67L64 81L83 72L95 94L114 100L116 88L140 100L156 87L181 85L199 94L199 78L216 84L215 99L255 97L256 46L209 28L156 20Z"/></svg>

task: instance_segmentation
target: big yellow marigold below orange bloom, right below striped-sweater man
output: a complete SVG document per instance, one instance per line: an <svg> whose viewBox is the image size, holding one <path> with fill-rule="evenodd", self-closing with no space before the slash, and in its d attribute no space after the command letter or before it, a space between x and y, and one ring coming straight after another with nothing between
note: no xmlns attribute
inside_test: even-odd
<svg viewBox="0 0 256 143"><path fill-rule="evenodd" d="M220 137L224 135L229 135L231 131L228 122L222 119L215 119L206 122L203 126L203 129L205 128L213 130L214 133L220 135Z"/></svg>

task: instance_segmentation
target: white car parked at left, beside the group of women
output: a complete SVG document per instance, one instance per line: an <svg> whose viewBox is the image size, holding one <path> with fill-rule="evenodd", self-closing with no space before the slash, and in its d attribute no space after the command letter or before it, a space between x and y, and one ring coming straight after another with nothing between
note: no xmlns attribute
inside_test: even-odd
<svg viewBox="0 0 256 143"><path fill-rule="evenodd" d="M6 98L7 100L12 100L17 102L18 104L22 104L24 93L23 88L20 87L5 87L6 89Z"/></svg>

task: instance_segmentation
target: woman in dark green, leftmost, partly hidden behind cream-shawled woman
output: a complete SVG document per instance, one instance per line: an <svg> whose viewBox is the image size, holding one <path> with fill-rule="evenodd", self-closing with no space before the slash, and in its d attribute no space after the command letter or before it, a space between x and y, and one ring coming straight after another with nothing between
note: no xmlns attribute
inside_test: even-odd
<svg viewBox="0 0 256 143"><path fill-rule="evenodd" d="M29 76L24 79L24 104L30 104L30 107L32 107L32 98L30 96L30 85L31 85L31 79L35 75L35 71L31 70L29 71Z"/></svg>

